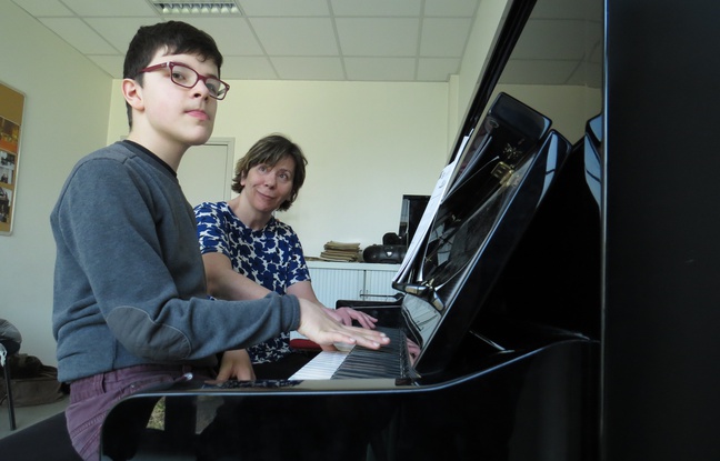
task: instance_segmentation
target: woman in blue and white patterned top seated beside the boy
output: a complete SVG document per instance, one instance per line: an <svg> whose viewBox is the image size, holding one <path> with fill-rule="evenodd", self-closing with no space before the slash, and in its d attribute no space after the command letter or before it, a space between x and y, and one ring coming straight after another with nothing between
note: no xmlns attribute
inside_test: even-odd
<svg viewBox="0 0 720 461"><path fill-rule="evenodd" d="M268 136L236 164L234 199L196 207L210 295L247 300L274 291L320 304L298 235L272 214L292 206L304 182L307 163L297 144L280 134ZM349 308L328 312L344 324L356 320L373 328L377 321ZM218 379L288 378L309 360L293 353L289 343L289 335L283 333L247 351L226 352Z"/></svg>

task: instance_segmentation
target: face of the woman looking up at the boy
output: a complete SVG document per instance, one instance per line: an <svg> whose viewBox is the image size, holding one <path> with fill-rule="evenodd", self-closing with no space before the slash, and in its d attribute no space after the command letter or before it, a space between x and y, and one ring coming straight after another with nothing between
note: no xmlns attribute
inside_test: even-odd
<svg viewBox="0 0 720 461"><path fill-rule="evenodd" d="M294 178L294 160L286 156L278 163L259 163L248 171L240 181L243 186L242 193L256 210L271 213L290 198L292 180Z"/></svg>

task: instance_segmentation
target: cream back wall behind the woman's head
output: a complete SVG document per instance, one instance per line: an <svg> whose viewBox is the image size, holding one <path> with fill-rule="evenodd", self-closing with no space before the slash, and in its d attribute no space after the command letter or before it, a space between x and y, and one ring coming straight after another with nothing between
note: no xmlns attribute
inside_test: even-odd
<svg viewBox="0 0 720 461"><path fill-rule="evenodd" d="M402 194L430 194L446 164L447 83L229 83L213 137L234 138L236 160L272 132L289 136L308 158L298 200L278 214L308 255L320 255L330 240L381 243L398 231ZM118 86L108 141L127 133Z"/></svg>

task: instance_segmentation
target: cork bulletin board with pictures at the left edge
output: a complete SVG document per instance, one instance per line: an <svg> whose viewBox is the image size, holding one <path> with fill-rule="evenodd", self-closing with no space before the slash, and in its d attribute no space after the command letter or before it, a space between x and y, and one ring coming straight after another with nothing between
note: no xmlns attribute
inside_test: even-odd
<svg viewBox="0 0 720 461"><path fill-rule="evenodd" d="M0 82L0 235L12 233L24 96Z"/></svg>

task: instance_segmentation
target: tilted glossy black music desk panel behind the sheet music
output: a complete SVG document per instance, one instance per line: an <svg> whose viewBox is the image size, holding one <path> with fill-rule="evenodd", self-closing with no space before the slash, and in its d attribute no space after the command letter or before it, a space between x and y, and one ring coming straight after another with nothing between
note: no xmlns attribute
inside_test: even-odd
<svg viewBox="0 0 720 461"><path fill-rule="evenodd" d="M476 131L429 229L424 254L418 258L416 282L429 287L438 309L447 302L439 292L497 227L550 123L501 93Z"/></svg>

